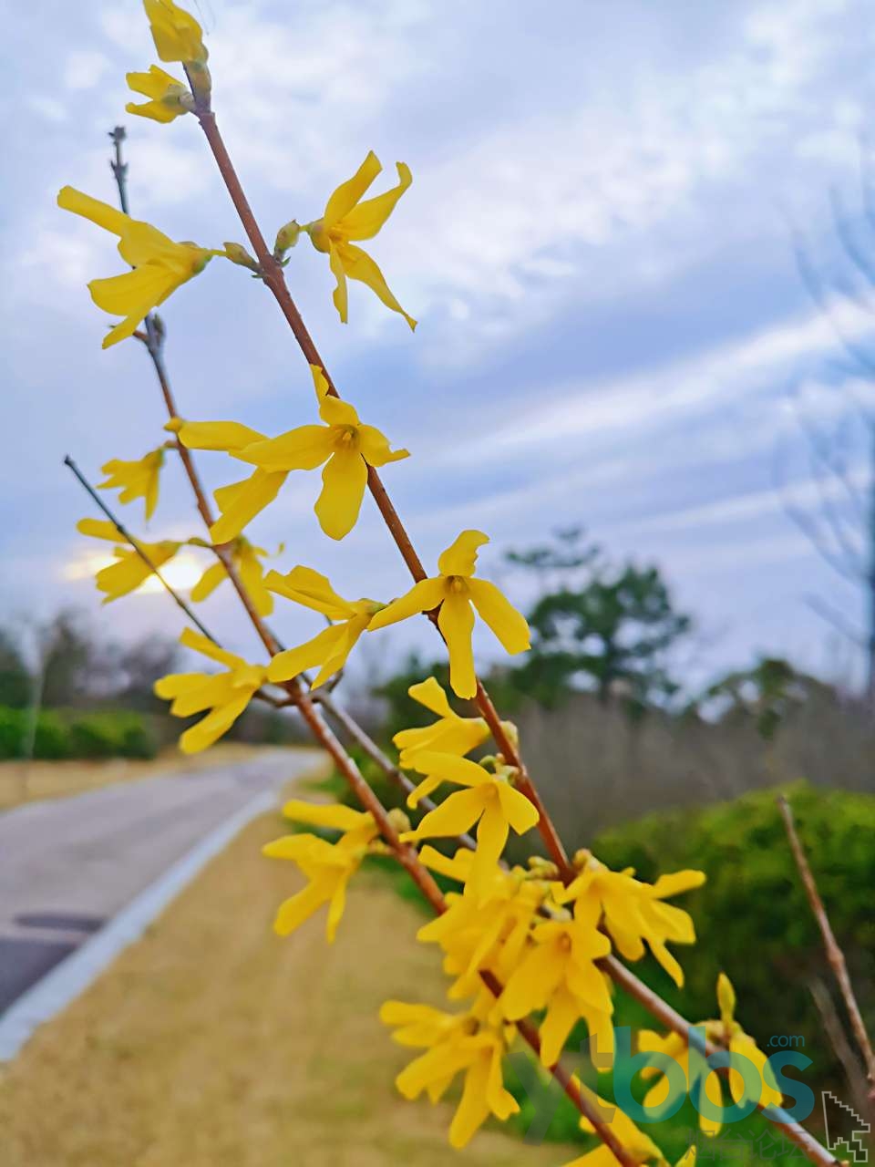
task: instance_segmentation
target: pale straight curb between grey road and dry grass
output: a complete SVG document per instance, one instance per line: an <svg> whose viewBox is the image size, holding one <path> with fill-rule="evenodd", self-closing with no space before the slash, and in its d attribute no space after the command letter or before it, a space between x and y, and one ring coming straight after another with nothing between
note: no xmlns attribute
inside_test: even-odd
<svg viewBox="0 0 875 1167"><path fill-rule="evenodd" d="M123 952L258 815L276 806L264 791L201 839L182 859L140 892L108 924L65 957L0 1016L0 1062L12 1061L33 1032L61 1013Z"/></svg>

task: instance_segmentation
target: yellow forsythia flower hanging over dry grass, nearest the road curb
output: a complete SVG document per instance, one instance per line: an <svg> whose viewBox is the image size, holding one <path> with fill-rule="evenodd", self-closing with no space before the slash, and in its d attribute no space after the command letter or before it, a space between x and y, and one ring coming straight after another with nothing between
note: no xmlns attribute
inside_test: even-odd
<svg viewBox="0 0 875 1167"><path fill-rule="evenodd" d="M343 916L346 885L362 865L379 830L371 815L350 806L293 799L286 803L282 813L296 823L343 832L334 844L315 834L287 834L262 848L262 853L271 859L290 859L298 864L309 881L302 892L280 904L274 931L279 936L288 936L327 903L326 935L330 944Z"/></svg>

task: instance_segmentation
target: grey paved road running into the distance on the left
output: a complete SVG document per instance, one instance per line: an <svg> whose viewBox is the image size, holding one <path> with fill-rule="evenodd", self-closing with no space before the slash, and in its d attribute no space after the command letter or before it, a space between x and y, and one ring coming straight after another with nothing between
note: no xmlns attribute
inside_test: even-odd
<svg viewBox="0 0 875 1167"><path fill-rule="evenodd" d="M0 813L0 1014L200 839L313 762L271 750Z"/></svg>

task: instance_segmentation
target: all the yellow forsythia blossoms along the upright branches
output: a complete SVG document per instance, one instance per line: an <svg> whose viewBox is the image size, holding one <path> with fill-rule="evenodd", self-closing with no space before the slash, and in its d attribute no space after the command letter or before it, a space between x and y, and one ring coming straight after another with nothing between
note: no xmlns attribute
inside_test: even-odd
<svg viewBox="0 0 875 1167"><path fill-rule="evenodd" d="M205 114L211 117L211 81L201 26L174 0L144 4L160 60L181 65L187 83L155 64L146 72L128 74L130 88L147 98L130 104L128 111L164 124L189 112L202 120ZM58 205L117 236L119 254L130 267L89 285L96 305L120 317L105 337L104 348L132 336L153 345L155 329L149 314L203 272L212 258L229 259L270 282L271 272L275 277L278 265L289 261L288 252L301 232L328 257L336 281L332 299L342 322L348 320L348 280L357 280L402 315L411 329L415 328L416 322L390 292L374 260L358 246L382 230L410 189L408 167L399 162L397 169L397 186L365 198L382 170L376 155L369 152L356 174L328 198L322 217L303 226L295 219L286 223L276 235L273 256L262 256L261 263L239 244L210 249L174 242L150 224L64 187ZM141 333L144 321L146 330ZM516 727L510 722L502 722L501 731L497 727L475 671L473 635L480 616L508 654L519 654L530 647L530 630L496 585L477 575L478 552L489 543L482 531L461 531L438 557L434 575L420 578L424 573L414 567L414 585L388 602L346 599L313 567L298 565L286 573L265 571L267 552L244 532L274 502L289 475L321 468L315 515L324 534L340 540L355 529L368 488L374 494L382 490L378 469L410 456L406 449L393 449L380 429L359 419L357 410L338 397L324 369L312 364L310 375L317 419L314 415L271 438L237 420L190 421L174 417L166 426L169 440L139 460L112 459L105 463L106 478L100 488L120 491L121 503L142 499L146 519L152 518L158 505L167 449L175 449L183 459L189 457L189 450L214 450L243 463L246 476L215 491L219 517L210 527L211 541L162 539L134 546L113 523L94 519L79 523L79 531L114 544L112 564L97 572L104 602L136 591L154 569L188 545L215 557L191 589L192 601L205 601L232 578L258 617L271 615L279 596L324 622L315 635L275 651L266 663L250 663L208 636L186 629L181 643L211 662L210 671L163 677L155 692L172 701L170 712L176 717L203 714L180 739L187 753L217 741L254 698L272 699L272 685L286 686L287 693L295 694L303 680L314 691L320 690L341 675L366 634L419 614L436 623L447 645L453 694L478 699L489 724L484 717L470 715L470 710L454 708L450 693L434 677L411 686L411 698L434 720L400 731L394 745L399 767L416 776L415 782L408 782L407 809L412 815L425 812L415 826L401 811L391 812L391 829L386 820L382 822L392 853L408 866L418 858L455 887L446 896L446 910L418 932L422 943L438 945L441 951L449 978L447 995L454 1008L387 1001L380 1016L396 1030L396 1041L418 1051L397 1079L406 1098L425 1093L434 1103L444 1098L454 1084L461 1088L449 1139L454 1147L463 1147L487 1119L506 1120L519 1110L506 1086L505 1060L520 1030L530 1035L542 1067L551 1070L582 1022L595 1063L598 1068L610 1063L614 991L604 969L607 957L638 962L650 953L676 985L682 985L684 973L670 945L692 944L695 934L687 913L666 901L700 887L705 876L684 871L648 883L636 879L634 871L610 871L589 852L574 857L573 871L564 868L565 879L552 862L538 857L526 865L508 862L505 850L511 836L530 837L540 815L530 798L531 784L514 764L517 760L505 756L516 750ZM201 496L198 501L205 513L206 504ZM266 635L262 638L273 643ZM490 725L501 739L494 743L495 753L470 757L475 750L489 748ZM436 803L430 801L433 796ZM289 860L304 880L304 886L280 904L275 930L287 936L327 908L326 932L331 942L352 876L370 855L390 853L374 818L377 808L372 815L344 805L295 799L286 805L285 813L313 831L286 834L264 848L270 858ZM469 832L474 832L474 839ZM432 839L450 840L447 852L424 846ZM762 1078L755 1091L758 1103L779 1102L764 1056L735 1021L735 994L724 977L718 995L721 1016L704 1023L706 1035L754 1062ZM531 1037L536 1028L537 1042ZM639 1043L644 1050L673 1056L692 1079L694 1068L685 1039L645 1032ZM648 1077L656 1079L649 1103L665 1102L668 1079L654 1067ZM603 1105L582 1083L576 1082L576 1089L593 1106ZM737 1100L747 1097L751 1088L730 1070L728 1089ZM706 1091L712 1100L720 1100L721 1085L715 1076L707 1078ZM667 1167L656 1144L622 1110L612 1109L608 1125L636 1162ZM586 1120L581 1126L592 1133ZM719 1123L704 1119L702 1127L713 1134ZM678 1167L692 1167L694 1158L691 1149ZM612 1152L603 1145L569 1167L610 1167L614 1162Z"/></svg>

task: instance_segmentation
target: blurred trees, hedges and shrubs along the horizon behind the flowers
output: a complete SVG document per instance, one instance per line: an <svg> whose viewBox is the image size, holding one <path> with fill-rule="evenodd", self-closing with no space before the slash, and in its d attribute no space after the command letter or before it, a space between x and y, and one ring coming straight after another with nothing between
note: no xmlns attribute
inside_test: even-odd
<svg viewBox="0 0 875 1167"><path fill-rule="evenodd" d="M687 973L682 992L652 962L636 971L687 1016L704 1020L715 1013L714 986L726 970L738 992L740 1020L766 1051L772 1037L793 1037L812 1060L802 1075L807 1084L859 1099L863 1075L840 1040L844 1006L775 797L778 789L791 796L861 1006L875 1023L875 728L866 699L768 656L696 690L691 677L705 673L696 630L659 569L612 561L580 529L508 552L505 568L530 596L524 607L532 650L494 666L487 680L503 715L518 725L569 852L592 848L645 880L685 867L708 876L684 902L699 944L679 953ZM178 668L175 642L105 643L72 612L30 628L29 636L0 629L0 757L28 756L28 749L47 759L152 756L180 732L152 686ZM443 661L413 655L364 686L344 678L341 692L394 757L393 734L432 720L407 693L428 676L447 687ZM256 706L233 735L292 741L300 728L294 718ZM400 805L383 771L354 755L382 799ZM349 797L337 776L324 787ZM511 858L525 854L517 844ZM378 866L399 894L416 897L391 864ZM618 1000L616 1023L639 1028L650 1020ZM573 1035L573 1056L584 1036ZM609 1083L600 1086L610 1090ZM526 1106L522 1131L532 1117ZM668 1124L672 1154L680 1154L694 1126L690 1106ZM547 1133L576 1135L573 1110L556 1105ZM746 1149L744 1139L752 1147L761 1135L768 1138L764 1125L750 1119L744 1132L727 1134L724 1156L774 1158Z"/></svg>

